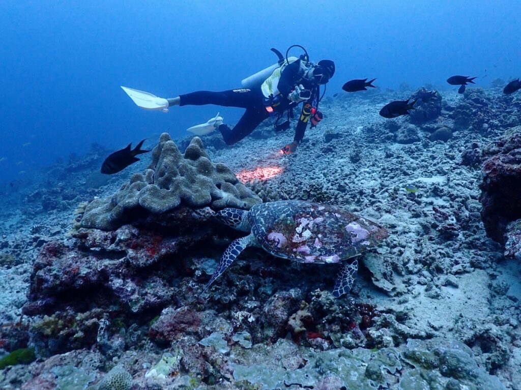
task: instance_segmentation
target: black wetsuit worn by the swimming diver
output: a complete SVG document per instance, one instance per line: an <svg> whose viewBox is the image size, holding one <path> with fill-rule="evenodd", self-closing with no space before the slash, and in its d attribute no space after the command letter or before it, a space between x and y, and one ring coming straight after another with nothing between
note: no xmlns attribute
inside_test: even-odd
<svg viewBox="0 0 521 390"><path fill-rule="evenodd" d="M291 91L295 89L295 85L302 84L306 90L311 90L311 97L304 102L318 109L318 100L320 98L320 87L315 82L302 78L300 74L301 60L292 62L282 70L277 89L282 95L280 104L274 106L274 113L281 114L288 109L292 109L297 104L288 99ZM253 89L237 89L222 92L197 91L185 95L180 95L180 106L203 106L205 104L215 104L224 107L245 108L246 112L239 119L239 122L230 129L228 125L221 124L219 131L222 138L228 145L242 140L250 134L262 121L269 118L270 114L266 110L264 103L265 98L261 91L261 87ZM304 138L308 117L299 119L296 125L294 141L300 143Z"/></svg>

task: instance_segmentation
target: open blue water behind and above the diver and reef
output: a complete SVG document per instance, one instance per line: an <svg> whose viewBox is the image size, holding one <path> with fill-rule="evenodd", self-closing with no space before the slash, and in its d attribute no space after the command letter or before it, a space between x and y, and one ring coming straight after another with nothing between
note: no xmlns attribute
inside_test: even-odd
<svg viewBox="0 0 521 390"><path fill-rule="evenodd" d="M144 111L119 86L162 97L232 89L275 62L270 47L301 44L312 60L333 59L328 95L365 77L382 89L445 88L446 78L464 74L488 87L521 76L519 15L517 0L3 0L0 182L93 142L115 150L163 131L186 135L217 111L233 124L242 110Z"/></svg>

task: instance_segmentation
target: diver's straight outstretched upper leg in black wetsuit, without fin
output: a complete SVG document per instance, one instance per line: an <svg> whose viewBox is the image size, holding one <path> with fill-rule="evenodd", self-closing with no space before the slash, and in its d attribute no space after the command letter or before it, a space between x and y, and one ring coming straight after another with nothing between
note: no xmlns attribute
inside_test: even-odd
<svg viewBox="0 0 521 390"><path fill-rule="evenodd" d="M168 99L168 106L203 106L205 104L215 104L223 107L248 108L262 104L262 92L259 89L237 89L221 92L197 91L179 95Z"/></svg>

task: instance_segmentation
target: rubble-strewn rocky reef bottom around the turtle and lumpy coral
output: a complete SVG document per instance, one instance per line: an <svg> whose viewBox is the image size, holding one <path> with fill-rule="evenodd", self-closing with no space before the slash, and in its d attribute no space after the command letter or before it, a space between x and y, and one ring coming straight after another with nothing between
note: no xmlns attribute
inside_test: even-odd
<svg viewBox="0 0 521 390"><path fill-rule="evenodd" d="M519 216L495 212L517 195L518 143L502 140L521 103L468 88L425 115L375 114L413 92L325 98L290 156L293 134L268 124L233 147L202 137L264 202L334 204L390 231L339 299L336 265L257 248L201 294L243 235L209 208L81 228L144 158L93 186L95 149L15 183L0 210L0 388L521 390Z"/></svg>

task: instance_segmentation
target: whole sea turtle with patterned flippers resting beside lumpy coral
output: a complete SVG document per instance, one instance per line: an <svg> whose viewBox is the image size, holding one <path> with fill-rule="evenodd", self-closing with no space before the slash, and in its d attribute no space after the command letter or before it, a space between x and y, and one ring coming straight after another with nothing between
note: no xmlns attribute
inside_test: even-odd
<svg viewBox="0 0 521 390"><path fill-rule="evenodd" d="M204 291L247 246L263 248L269 254L304 263L346 262L337 276L333 296L347 294L356 276L356 256L389 235L380 225L340 207L280 200L259 203L250 211L225 208L217 218L233 229L250 235L233 240L222 254Z"/></svg>

